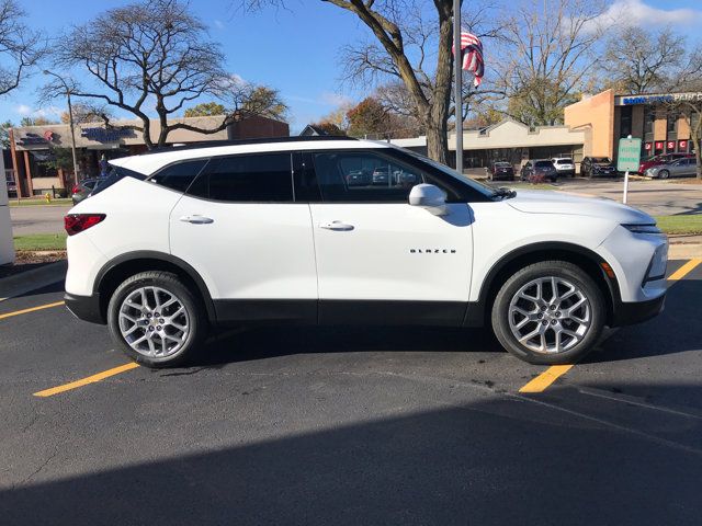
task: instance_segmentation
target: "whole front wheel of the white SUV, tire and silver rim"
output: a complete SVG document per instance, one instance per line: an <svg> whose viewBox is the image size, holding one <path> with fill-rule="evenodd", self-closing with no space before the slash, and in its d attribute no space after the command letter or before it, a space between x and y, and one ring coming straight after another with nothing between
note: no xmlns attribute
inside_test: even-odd
<svg viewBox="0 0 702 526"><path fill-rule="evenodd" d="M502 346L531 364L573 364L596 344L605 306L597 284L564 261L534 263L513 274L492 305Z"/></svg>

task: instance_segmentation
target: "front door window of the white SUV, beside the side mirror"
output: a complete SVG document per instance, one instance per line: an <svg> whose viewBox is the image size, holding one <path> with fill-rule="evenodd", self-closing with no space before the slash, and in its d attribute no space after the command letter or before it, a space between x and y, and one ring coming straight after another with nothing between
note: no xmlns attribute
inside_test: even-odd
<svg viewBox="0 0 702 526"><path fill-rule="evenodd" d="M318 152L314 158L325 202L407 203L412 186L424 182L418 170L372 152Z"/></svg>

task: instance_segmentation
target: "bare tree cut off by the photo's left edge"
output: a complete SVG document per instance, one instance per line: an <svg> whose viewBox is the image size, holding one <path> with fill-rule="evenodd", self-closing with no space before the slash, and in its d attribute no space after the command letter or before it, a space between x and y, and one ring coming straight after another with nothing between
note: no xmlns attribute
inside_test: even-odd
<svg viewBox="0 0 702 526"><path fill-rule="evenodd" d="M43 37L24 23L15 0L0 0L0 95L14 90L45 53Z"/></svg>

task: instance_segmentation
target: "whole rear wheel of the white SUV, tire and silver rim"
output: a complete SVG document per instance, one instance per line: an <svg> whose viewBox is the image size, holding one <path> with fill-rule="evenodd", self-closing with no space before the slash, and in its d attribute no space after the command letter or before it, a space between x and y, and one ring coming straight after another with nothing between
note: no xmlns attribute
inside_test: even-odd
<svg viewBox="0 0 702 526"><path fill-rule="evenodd" d="M122 283L107 306L113 340L147 367L184 364L206 333L199 298L168 272L143 272Z"/></svg>

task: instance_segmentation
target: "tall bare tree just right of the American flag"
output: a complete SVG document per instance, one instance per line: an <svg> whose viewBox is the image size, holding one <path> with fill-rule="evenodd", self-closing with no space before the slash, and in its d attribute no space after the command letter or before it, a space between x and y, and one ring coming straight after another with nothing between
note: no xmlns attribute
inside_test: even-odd
<svg viewBox="0 0 702 526"><path fill-rule="evenodd" d="M577 101L604 33L603 5L590 0L529 0L510 5L506 44L494 68L503 110L529 126L563 122Z"/></svg>

